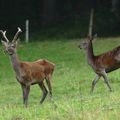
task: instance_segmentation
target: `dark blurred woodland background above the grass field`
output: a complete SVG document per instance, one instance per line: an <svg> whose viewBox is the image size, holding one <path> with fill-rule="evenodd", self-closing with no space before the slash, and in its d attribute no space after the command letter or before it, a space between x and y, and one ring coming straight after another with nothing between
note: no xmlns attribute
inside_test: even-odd
<svg viewBox="0 0 120 120"><path fill-rule="evenodd" d="M29 19L31 36L80 38L87 34L92 7L93 31L98 36L120 35L119 0L0 0L0 29L13 33L20 26L24 31Z"/></svg>

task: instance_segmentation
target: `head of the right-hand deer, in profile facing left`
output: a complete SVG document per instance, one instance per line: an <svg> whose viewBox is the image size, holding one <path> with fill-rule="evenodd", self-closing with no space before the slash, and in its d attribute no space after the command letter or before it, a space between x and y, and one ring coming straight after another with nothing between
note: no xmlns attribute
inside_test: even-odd
<svg viewBox="0 0 120 120"><path fill-rule="evenodd" d="M91 36L87 36L86 40L84 40L84 42L82 42L78 47L80 49L84 49L87 50L89 47L89 44L97 37L97 34L95 34L93 37Z"/></svg>

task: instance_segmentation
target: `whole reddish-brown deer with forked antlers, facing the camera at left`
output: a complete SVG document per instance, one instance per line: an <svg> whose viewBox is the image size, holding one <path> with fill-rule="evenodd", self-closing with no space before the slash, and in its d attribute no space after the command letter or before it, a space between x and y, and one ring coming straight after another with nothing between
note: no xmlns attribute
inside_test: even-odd
<svg viewBox="0 0 120 120"><path fill-rule="evenodd" d="M51 77L54 71L54 64L48 60L37 60L34 62L22 62L19 60L16 47L18 35L22 32L18 27L18 31L15 34L12 42L6 37L6 31L0 30L5 41L1 41L5 47L5 52L10 56L12 67L16 74L16 79L20 83L23 92L23 103L27 107L28 95L30 92L30 86L38 84L42 90L43 96L40 103L43 103L47 96L47 89L44 85L44 79L46 80L49 94L52 96Z"/></svg>

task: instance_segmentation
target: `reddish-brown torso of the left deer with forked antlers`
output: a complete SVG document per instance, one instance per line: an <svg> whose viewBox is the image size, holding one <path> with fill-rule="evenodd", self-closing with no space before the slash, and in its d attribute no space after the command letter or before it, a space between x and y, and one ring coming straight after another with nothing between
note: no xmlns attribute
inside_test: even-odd
<svg viewBox="0 0 120 120"><path fill-rule="evenodd" d="M46 75L52 75L55 65L48 60L37 60L35 62L20 62L22 76L31 79L44 79Z"/></svg>

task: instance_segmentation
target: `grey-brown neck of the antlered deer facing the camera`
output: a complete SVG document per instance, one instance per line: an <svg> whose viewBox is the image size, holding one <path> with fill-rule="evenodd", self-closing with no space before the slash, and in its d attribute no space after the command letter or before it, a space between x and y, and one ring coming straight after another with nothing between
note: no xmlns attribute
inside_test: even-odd
<svg viewBox="0 0 120 120"><path fill-rule="evenodd" d="M16 73L16 75L18 77L20 77L20 62L19 62L19 59L18 59L18 56L16 53L14 53L13 55L10 56L11 58L11 62L12 62L12 67Z"/></svg>

